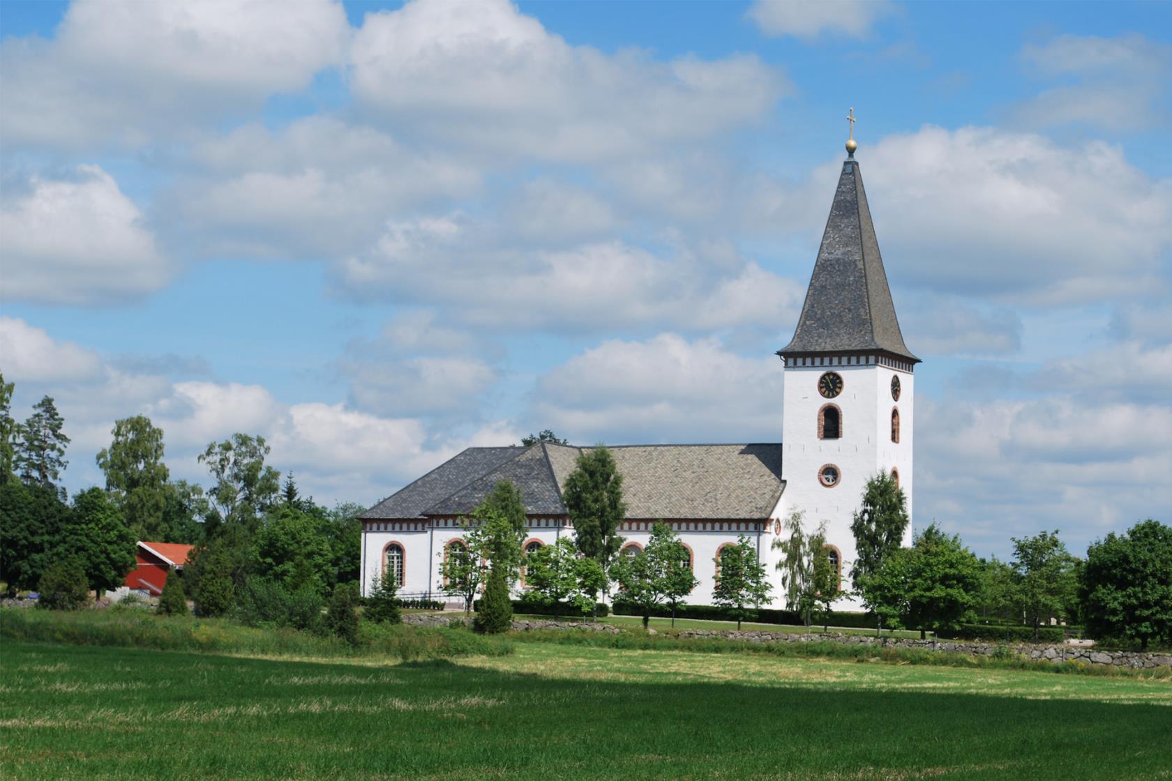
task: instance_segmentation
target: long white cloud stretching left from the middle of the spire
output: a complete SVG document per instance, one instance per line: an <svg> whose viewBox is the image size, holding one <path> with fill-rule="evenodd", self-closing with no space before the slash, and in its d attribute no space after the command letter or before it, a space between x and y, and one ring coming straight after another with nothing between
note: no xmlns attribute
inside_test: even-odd
<svg viewBox="0 0 1172 781"><path fill-rule="evenodd" d="M368 253L338 265L357 297L451 308L497 328L716 330L775 324L802 288L751 261L672 260L622 241L522 249L459 214L393 222Z"/></svg>

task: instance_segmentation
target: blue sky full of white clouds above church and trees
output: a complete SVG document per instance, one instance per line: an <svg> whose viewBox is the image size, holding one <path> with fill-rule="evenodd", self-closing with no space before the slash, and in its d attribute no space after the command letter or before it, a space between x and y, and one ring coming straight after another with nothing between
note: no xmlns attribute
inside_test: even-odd
<svg viewBox="0 0 1172 781"><path fill-rule="evenodd" d="M1172 521L1172 5L0 4L0 371L66 486L260 434L319 502L471 445L778 441L847 110L915 526Z"/></svg>

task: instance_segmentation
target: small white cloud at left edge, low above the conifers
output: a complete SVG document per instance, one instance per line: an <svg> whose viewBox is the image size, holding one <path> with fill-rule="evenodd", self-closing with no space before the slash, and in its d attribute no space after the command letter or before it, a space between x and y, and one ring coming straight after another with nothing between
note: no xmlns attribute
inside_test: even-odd
<svg viewBox="0 0 1172 781"><path fill-rule="evenodd" d="M48 383L86 379L98 371L97 354L57 342L23 320L0 316L0 370L5 382Z"/></svg>

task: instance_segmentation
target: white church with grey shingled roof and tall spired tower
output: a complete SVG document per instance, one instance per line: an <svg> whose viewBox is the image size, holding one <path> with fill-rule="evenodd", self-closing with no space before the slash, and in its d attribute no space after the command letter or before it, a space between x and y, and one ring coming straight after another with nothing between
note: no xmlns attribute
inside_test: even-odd
<svg viewBox="0 0 1172 781"><path fill-rule="evenodd" d="M864 485L880 471L897 479L911 515L919 358L895 317L853 132L846 150L802 315L793 338L777 351L782 441L608 445L624 479L624 550L641 549L655 521L669 523L700 581L690 604L711 604L721 548L745 535L774 585L771 607L783 608L774 541L793 511L804 513L808 528L826 523L831 561L849 588L851 520ZM526 552L572 537L561 489L586 450L551 443L469 447L391 494L361 515L363 594L376 574L393 573L404 598L456 602L444 591L441 561L462 544L462 519L500 480L515 482L525 500ZM911 529L907 537L911 543ZM844 597L834 607L860 605Z"/></svg>

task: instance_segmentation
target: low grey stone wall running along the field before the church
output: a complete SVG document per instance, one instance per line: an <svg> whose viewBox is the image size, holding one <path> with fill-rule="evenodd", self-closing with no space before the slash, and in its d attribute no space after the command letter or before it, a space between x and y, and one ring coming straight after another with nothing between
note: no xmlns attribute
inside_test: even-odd
<svg viewBox="0 0 1172 781"><path fill-rule="evenodd" d="M438 616L429 614L404 614L403 623L424 626L447 626L452 621L469 621L464 616ZM539 629L553 630L577 630L609 632L618 635L626 630L612 624L591 624L570 621L515 621L513 631L529 632ZM650 630L655 633L655 630ZM1119 667L1133 667L1137 670L1172 666L1172 653L1140 653L1138 651L1105 651L1089 646L1077 645L1033 645L1033 644L1008 644L980 643L975 640L920 640L902 637L878 638L871 635L839 635L839 633L811 633L803 632L770 632L770 631L717 631L708 629L683 629L674 632L673 636L697 639L727 639L741 640L743 643L815 643L829 642L841 643L844 645L870 645L874 648L901 648L920 649L925 651L952 651L954 653L968 653L972 656L993 656L995 653L1014 653L1038 662L1078 662L1091 665L1115 665Z"/></svg>

